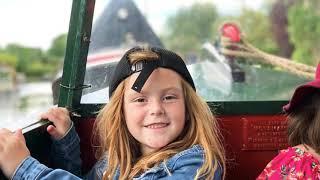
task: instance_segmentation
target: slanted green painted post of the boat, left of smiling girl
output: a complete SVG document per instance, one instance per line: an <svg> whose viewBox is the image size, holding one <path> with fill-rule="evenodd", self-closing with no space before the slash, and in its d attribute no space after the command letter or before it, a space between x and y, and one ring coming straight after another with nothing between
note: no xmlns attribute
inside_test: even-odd
<svg viewBox="0 0 320 180"><path fill-rule="evenodd" d="M66 55L60 85L60 107L77 109L90 43L95 0L74 0L69 24Z"/></svg>

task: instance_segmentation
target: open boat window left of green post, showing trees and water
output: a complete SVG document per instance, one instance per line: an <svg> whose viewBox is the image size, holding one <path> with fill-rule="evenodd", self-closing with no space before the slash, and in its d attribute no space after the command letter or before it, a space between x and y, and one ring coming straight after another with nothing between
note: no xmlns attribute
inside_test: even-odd
<svg viewBox="0 0 320 180"><path fill-rule="evenodd" d="M72 1L0 2L0 128L26 127L52 107L71 6Z"/></svg>

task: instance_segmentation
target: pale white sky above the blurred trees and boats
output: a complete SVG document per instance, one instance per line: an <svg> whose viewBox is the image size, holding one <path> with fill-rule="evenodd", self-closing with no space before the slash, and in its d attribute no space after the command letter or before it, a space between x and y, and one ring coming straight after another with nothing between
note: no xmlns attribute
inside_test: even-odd
<svg viewBox="0 0 320 180"><path fill-rule="evenodd" d="M192 2L214 3L221 14L236 13L241 7L259 9L265 0L134 0L156 32L161 31L165 17L178 7ZM94 20L109 0L96 0ZM168 6L170 4L170 6ZM0 0L0 47L18 43L48 49L52 40L67 33L72 0Z"/></svg>

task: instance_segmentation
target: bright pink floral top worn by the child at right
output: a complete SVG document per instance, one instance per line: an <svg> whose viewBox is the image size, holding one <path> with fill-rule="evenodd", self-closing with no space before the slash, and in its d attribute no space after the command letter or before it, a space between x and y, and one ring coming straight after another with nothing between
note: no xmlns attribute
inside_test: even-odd
<svg viewBox="0 0 320 180"><path fill-rule="evenodd" d="M316 179L320 180L320 163L310 153L296 147L281 150L268 163L257 180Z"/></svg>

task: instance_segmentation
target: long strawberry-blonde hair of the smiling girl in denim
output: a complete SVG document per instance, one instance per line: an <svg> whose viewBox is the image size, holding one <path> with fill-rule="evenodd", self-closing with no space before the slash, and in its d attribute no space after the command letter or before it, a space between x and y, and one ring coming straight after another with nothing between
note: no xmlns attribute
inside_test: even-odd
<svg viewBox="0 0 320 180"><path fill-rule="evenodd" d="M150 50L133 52L130 62L155 60L158 55ZM205 101L181 78L186 107L186 123L184 130L174 141L155 153L142 156L139 142L127 129L123 113L123 94L125 81L114 91L110 102L102 109L95 123L95 131L100 140L100 156L108 157L108 164L103 179L112 179L120 167L119 179L132 179L156 164L173 155L199 144L204 149L204 163L198 170L195 179L213 178L219 164L225 177L225 154L220 142L217 120ZM106 154L103 154L106 153Z"/></svg>

